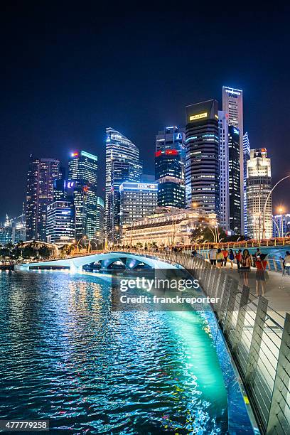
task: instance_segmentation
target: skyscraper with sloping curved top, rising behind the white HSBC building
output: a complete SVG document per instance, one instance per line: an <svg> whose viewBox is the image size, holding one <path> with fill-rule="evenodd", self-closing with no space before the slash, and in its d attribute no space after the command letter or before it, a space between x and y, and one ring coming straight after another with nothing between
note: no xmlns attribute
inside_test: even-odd
<svg viewBox="0 0 290 435"><path fill-rule="evenodd" d="M109 241L120 238L120 186L124 181L140 181L142 164L139 149L126 136L106 129L105 221Z"/></svg>

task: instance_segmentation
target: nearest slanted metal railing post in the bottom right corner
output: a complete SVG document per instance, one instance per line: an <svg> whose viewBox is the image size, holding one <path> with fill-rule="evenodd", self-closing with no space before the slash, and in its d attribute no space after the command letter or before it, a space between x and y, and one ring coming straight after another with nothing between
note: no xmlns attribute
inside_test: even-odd
<svg viewBox="0 0 290 435"><path fill-rule="evenodd" d="M290 314L286 313L285 323L281 338L276 376L272 394L269 419L267 424L267 434L281 434L279 430L281 421L285 419L284 411L287 397L289 397L290 381ZM288 387L288 388L287 388ZM280 414L280 418L279 418ZM283 426L282 426L283 427ZM285 432L286 433L286 432Z"/></svg>

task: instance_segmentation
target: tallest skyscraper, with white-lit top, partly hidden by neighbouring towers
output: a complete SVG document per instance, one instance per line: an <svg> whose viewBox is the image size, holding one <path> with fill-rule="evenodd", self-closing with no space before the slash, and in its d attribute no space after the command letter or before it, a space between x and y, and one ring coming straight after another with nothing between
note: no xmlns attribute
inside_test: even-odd
<svg viewBox="0 0 290 435"><path fill-rule="evenodd" d="M244 223L244 156L243 156L243 101L242 90L233 87L222 87L222 110L228 114L229 126L236 127L240 131L240 202L241 202L241 231L245 233Z"/></svg>

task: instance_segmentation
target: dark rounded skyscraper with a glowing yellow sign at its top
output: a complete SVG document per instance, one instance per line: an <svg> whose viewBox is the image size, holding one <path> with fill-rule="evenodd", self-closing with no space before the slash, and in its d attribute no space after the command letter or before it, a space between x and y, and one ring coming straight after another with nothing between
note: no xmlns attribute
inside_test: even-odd
<svg viewBox="0 0 290 435"><path fill-rule="evenodd" d="M186 208L220 213L218 102L186 107Z"/></svg>

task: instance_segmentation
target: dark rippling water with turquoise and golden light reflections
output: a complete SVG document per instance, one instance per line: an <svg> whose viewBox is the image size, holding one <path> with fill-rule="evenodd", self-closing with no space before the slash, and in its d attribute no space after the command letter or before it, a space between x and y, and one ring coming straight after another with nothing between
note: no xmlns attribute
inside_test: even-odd
<svg viewBox="0 0 290 435"><path fill-rule="evenodd" d="M1 419L51 434L225 434L227 393L198 313L110 311L109 281L2 272Z"/></svg>

